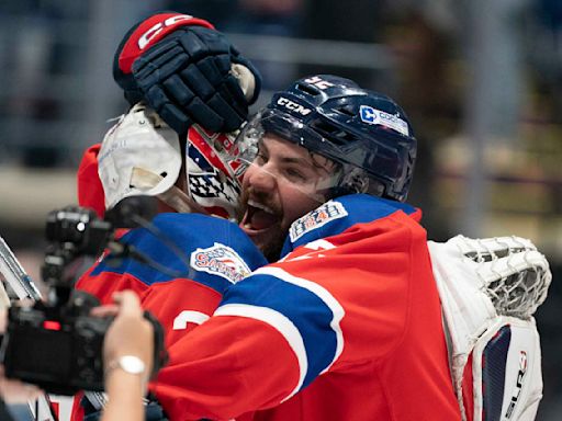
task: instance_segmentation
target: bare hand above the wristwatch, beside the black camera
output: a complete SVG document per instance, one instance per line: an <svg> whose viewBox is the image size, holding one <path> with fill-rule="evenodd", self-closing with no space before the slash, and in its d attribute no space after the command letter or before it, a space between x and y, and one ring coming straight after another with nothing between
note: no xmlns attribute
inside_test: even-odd
<svg viewBox="0 0 562 421"><path fill-rule="evenodd" d="M103 365L124 355L134 355L145 363L145 380L153 369L154 329L143 316L138 297L132 291L123 291L113 295L115 305L97 307L92 316L116 315L103 341Z"/></svg>

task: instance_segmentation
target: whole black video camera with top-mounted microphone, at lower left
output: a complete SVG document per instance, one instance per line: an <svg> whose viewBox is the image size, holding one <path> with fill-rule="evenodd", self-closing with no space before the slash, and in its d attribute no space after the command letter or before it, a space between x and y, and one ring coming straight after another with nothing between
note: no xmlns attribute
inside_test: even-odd
<svg viewBox="0 0 562 421"><path fill-rule="evenodd" d="M46 221L49 241L42 277L49 286L46 300L32 307L9 309L8 328L0 357L7 377L38 385L56 395L78 390L103 390L103 338L112 318L89 316L99 305L85 292L72 289L76 261L98 257L105 247L116 254L127 253L126 244L114 239L114 228L132 228L144 215L155 214L150 197L131 197L108 213L104 220L93 210L70 206L52 212ZM165 363L164 330L148 312L145 317L155 331L153 375Z"/></svg>

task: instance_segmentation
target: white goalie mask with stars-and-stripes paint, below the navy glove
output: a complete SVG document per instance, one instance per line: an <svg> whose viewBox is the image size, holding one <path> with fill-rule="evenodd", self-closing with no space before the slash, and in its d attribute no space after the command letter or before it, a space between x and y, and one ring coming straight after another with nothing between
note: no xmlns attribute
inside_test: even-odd
<svg viewBox="0 0 562 421"><path fill-rule="evenodd" d="M99 175L105 207L134 195L158 196L177 212L236 216L239 182L229 135L192 126L186 149L158 114L143 103L120 117L105 135L99 153ZM192 141L194 145L192 145ZM186 175L181 174L186 153ZM175 184L187 177L186 191Z"/></svg>

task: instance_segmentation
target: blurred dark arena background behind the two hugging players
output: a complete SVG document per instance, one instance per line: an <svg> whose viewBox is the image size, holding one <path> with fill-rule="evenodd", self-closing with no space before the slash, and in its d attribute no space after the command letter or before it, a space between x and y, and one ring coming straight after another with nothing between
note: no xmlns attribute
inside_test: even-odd
<svg viewBox="0 0 562 421"><path fill-rule="evenodd" d="M537 320L562 416L562 1L1 0L0 234L38 278L44 219L76 203L82 150L126 110L113 52L145 14L229 34L271 91L333 72L395 98L419 139L409 202L429 238L530 238L552 265ZM257 105L259 106L259 104Z"/></svg>

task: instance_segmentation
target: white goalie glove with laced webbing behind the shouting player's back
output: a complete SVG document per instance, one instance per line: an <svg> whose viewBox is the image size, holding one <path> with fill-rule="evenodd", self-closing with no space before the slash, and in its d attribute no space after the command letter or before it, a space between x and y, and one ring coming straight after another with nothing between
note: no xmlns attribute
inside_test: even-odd
<svg viewBox="0 0 562 421"><path fill-rule="evenodd" d="M552 274L519 237L428 241L462 420L535 420L542 397L532 315Z"/></svg>

